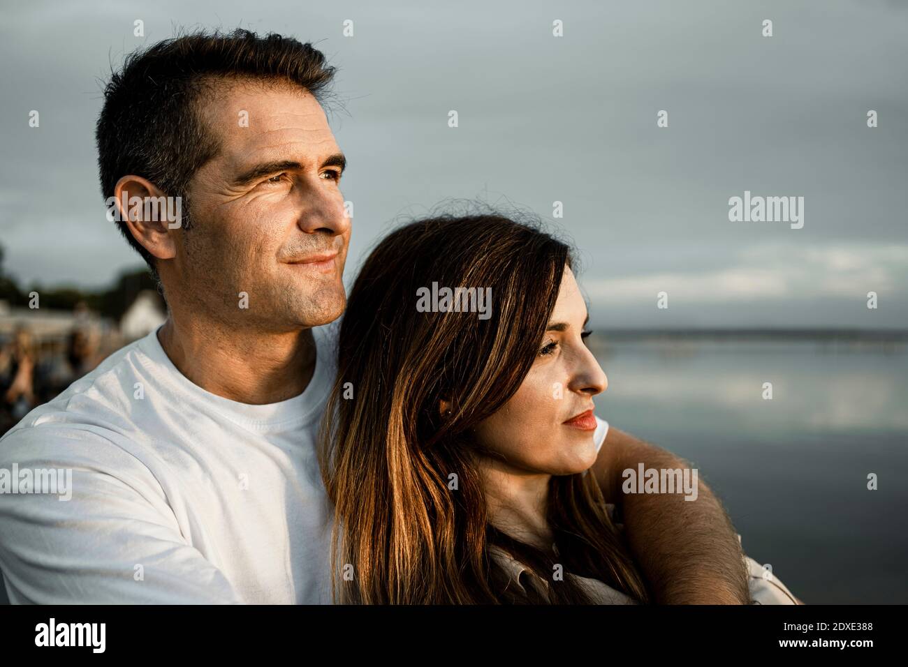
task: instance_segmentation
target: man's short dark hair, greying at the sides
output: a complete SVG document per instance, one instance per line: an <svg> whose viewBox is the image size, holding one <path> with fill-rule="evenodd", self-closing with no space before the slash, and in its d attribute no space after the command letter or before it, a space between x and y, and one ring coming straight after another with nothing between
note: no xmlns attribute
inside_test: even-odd
<svg viewBox="0 0 908 667"><path fill-rule="evenodd" d="M306 89L321 103L334 71L309 43L280 34L260 37L248 30L183 34L127 55L123 70L112 72L104 87L95 131L105 201L114 196L121 177L142 176L165 195L182 198L186 227L189 181L220 150L218 136L197 108L212 83L238 76L284 81ZM153 256L123 221L117 225L157 278Z"/></svg>

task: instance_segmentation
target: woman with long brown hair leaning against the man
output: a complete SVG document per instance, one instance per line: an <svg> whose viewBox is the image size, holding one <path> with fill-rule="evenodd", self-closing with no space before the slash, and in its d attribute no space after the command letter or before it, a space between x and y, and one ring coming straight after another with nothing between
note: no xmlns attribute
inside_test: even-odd
<svg viewBox="0 0 908 667"><path fill-rule="evenodd" d="M414 222L372 251L322 433L339 602L650 601L585 474L607 378L573 266L499 215Z"/></svg>

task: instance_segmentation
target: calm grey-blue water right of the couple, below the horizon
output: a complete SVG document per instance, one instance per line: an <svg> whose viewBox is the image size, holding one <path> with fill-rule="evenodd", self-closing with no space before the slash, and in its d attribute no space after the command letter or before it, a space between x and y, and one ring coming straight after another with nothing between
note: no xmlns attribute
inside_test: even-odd
<svg viewBox="0 0 908 667"><path fill-rule="evenodd" d="M608 377L597 414L696 466L745 553L795 595L908 603L903 339L589 342Z"/></svg>

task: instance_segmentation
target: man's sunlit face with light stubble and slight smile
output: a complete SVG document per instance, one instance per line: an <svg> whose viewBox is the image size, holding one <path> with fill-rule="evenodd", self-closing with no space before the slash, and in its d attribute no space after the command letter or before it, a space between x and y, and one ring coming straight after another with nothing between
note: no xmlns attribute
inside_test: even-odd
<svg viewBox="0 0 908 667"><path fill-rule="evenodd" d="M350 220L341 149L321 105L298 88L240 82L200 106L222 148L187 189L192 229L178 237L172 276L181 297L237 327L337 319Z"/></svg>

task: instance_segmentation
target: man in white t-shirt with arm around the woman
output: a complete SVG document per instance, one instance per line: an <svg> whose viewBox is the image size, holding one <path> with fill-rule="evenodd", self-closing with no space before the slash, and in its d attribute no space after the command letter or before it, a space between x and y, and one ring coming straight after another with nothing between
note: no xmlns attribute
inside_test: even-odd
<svg viewBox="0 0 908 667"><path fill-rule="evenodd" d="M72 475L68 500L0 494L11 602L331 602L315 446L350 240L332 74L310 44L237 31L154 44L113 75L102 188L169 316L0 441L0 468ZM602 452L656 599L748 602L705 486L695 503L616 497L622 469L684 463L617 428Z"/></svg>

